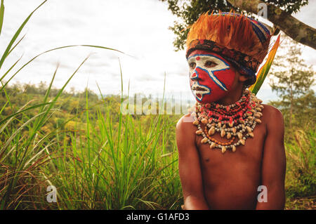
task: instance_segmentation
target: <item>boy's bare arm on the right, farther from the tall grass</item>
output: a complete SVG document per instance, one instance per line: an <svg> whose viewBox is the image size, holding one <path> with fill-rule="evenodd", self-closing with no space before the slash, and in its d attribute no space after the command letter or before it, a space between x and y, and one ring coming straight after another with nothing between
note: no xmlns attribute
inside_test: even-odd
<svg viewBox="0 0 316 224"><path fill-rule="evenodd" d="M283 117L275 107L265 106L267 136L263 149L262 185L268 190L268 202L257 202L256 209L284 209L286 159Z"/></svg>

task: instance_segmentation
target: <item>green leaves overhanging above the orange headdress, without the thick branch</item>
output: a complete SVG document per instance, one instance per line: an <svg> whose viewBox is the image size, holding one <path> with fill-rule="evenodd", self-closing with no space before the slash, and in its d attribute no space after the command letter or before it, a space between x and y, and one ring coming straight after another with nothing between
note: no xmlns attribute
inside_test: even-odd
<svg viewBox="0 0 316 224"><path fill-rule="evenodd" d="M176 34L176 39L173 41L175 50L183 50L185 47L185 40L187 39L187 32L190 25L192 25L202 13L213 11L235 10L237 13L244 12L240 8L233 7L228 1L225 0L160 0L168 3L169 10L176 15L179 20L174 21L173 26L169 27ZM284 9L287 13L297 13L302 6L308 4L308 0L265 0L268 4L273 4L279 8ZM253 14L248 13L253 17Z"/></svg>

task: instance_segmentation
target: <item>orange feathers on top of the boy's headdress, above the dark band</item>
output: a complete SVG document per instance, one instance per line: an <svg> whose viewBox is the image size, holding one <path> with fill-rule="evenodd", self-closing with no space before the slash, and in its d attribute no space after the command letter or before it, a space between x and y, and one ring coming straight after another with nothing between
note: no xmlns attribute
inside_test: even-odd
<svg viewBox="0 0 316 224"><path fill-rule="evenodd" d="M237 13L218 13L209 15L203 13L199 19L190 27L187 34L187 49L194 47L197 39L207 39L216 42L228 49L240 51L252 58L262 62L268 53L270 33L261 34L259 39L256 30L262 31L257 22L246 15ZM268 28L267 28L268 30Z"/></svg>

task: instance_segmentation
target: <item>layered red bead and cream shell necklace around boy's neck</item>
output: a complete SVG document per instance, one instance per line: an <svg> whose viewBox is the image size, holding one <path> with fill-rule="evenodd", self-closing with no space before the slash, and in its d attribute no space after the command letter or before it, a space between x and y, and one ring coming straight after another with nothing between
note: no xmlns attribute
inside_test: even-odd
<svg viewBox="0 0 316 224"><path fill-rule="evenodd" d="M211 149L218 148L223 153L228 149L235 152L237 146L245 145L247 138L254 138L254 128L256 124L261 124L263 115L261 103L262 100L249 90L244 90L242 97L232 105L196 103L192 116L195 117L193 124L197 126L197 135L204 137L201 143L209 143ZM205 125L204 130L200 123ZM229 141L212 138L216 132ZM238 138L237 143L234 143L235 138Z"/></svg>

